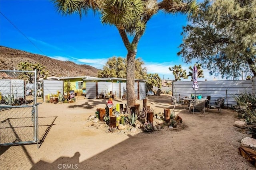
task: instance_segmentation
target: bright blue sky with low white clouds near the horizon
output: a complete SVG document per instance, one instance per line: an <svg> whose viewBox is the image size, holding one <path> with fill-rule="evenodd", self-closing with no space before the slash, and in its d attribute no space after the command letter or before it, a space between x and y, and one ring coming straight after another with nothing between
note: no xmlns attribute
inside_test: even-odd
<svg viewBox="0 0 256 170"><path fill-rule="evenodd" d="M78 15L61 16L49 0L0 0L0 10L12 22L0 14L2 46L99 69L110 57L126 57L127 51L117 29L103 25L98 15L89 13L82 20ZM137 53L148 73L174 80L169 67L181 64L188 72L188 67L194 65L185 64L177 56L182 43L180 33L186 23L185 15L164 13L156 14L148 22ZM199 80L214 78L207 70L204 76Z"/></svg>

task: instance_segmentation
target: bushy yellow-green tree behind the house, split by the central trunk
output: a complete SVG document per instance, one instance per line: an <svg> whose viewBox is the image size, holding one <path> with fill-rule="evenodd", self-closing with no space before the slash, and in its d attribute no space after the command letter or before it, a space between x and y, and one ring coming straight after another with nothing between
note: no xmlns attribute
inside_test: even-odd
<svg viewBox="0 0 256 170"><path fill-rule="evenodd" d="M135 60L135 78L144 79L146 77L146 68L142 68L144 62L140 58ZM100 78L126 78L126 65L127 61L122 57L112 57L108 59L106 65L103 66L103 70L98 71L98 77Z"/></svg>

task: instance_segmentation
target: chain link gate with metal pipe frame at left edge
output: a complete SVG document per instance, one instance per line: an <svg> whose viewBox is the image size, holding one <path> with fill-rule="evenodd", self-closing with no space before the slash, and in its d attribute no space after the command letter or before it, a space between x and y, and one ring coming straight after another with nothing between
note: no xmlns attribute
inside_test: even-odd
<svg viewBox="0 0 256 170"><path fill-rule="evenodd" d="M36 70L0 70L0 146L38 146L36 92Z"/></svg>

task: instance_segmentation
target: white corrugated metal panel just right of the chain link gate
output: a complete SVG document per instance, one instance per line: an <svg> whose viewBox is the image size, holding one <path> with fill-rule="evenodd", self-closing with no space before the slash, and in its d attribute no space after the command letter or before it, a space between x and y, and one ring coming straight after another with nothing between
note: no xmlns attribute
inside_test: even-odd
<svg viewBox="0 0 256 170"><path fill-rule="evenodd" d="M62 80L43 80L44 96L48 94L57 94L59 91L63 94L63 81Z"/></svg>

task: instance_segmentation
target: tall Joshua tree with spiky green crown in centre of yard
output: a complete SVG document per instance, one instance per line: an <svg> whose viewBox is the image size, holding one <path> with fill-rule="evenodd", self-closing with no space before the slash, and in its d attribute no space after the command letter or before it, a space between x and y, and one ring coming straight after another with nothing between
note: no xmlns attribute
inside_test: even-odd
<svg viewBox="0 0 256 170"><path fill-rule="evenodd" d="M144 34L148 20L160 10L168 14L178 12L196 15L195 0L52 0L57 12L62 15L80 14L89 10L100 14L102 23L114 25L127 49L127 106L135 104L134 70L137 45ZM187 3L186 3L187 2ZM133 36L132 41L128 35Z"/></svg>

